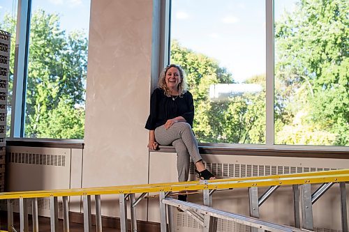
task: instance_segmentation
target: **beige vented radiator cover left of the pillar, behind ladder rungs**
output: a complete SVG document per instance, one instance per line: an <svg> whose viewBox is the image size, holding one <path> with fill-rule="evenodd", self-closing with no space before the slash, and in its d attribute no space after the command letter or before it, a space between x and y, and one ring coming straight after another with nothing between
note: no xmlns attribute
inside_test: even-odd
<svg viewBox="0 0 349 232"><path fill-rule="evenodd" d="M82 150L8 146L6 191L59 190L81 187ZM14 201L19 212L19 202ZM1 208L4 208L2 203ZM31 212L31 204L28 204ZM80 197L70 198L70 210L81 212ZM63 205L59 198L59 217ZM38 199L38 214L50 217L50 199Z"/></svg>

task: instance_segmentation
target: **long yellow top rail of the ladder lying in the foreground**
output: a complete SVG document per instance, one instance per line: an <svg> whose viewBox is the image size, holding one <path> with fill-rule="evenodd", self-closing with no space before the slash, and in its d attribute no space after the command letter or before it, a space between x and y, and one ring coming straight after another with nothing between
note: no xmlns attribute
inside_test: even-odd
<svg viewBox="0 0 349 232"><path fill-rule="evenodd" d="M349 169L318 171L274 176L231 178L181 183L158 183L147 185L124 185L114 187L89 187L69 190L45 190L26 192L3 192L0 199L40 198L50 196L83 196L105 194L135 194L151 192L177 192L191 190L219 190L242 187L269 187L274 185L302 185L317 183L349 182Z"/></svg>

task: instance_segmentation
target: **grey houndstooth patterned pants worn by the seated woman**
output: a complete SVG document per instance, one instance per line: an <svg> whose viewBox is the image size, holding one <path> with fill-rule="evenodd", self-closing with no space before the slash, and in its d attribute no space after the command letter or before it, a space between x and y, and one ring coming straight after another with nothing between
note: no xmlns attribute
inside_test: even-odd
<svg viewBox="0 0 349 232"><path fill-rule="evenodd" d="M155 129L155 139L160 145L174 146L177 152L178 181L187 181L190 157L194 164L202 160L191 125L184 122L174 123L168 130L161 125Z"/></svg>

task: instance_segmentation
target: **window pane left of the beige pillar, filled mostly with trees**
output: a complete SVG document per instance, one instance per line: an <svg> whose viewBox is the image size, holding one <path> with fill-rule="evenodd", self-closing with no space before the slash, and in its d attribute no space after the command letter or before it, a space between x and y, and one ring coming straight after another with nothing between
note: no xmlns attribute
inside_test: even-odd
<svg viewBox="0 0 349 232"><path fill-rule="evenodd" d="M32 1L25 137L84 137L89 7Z"/></svg>

